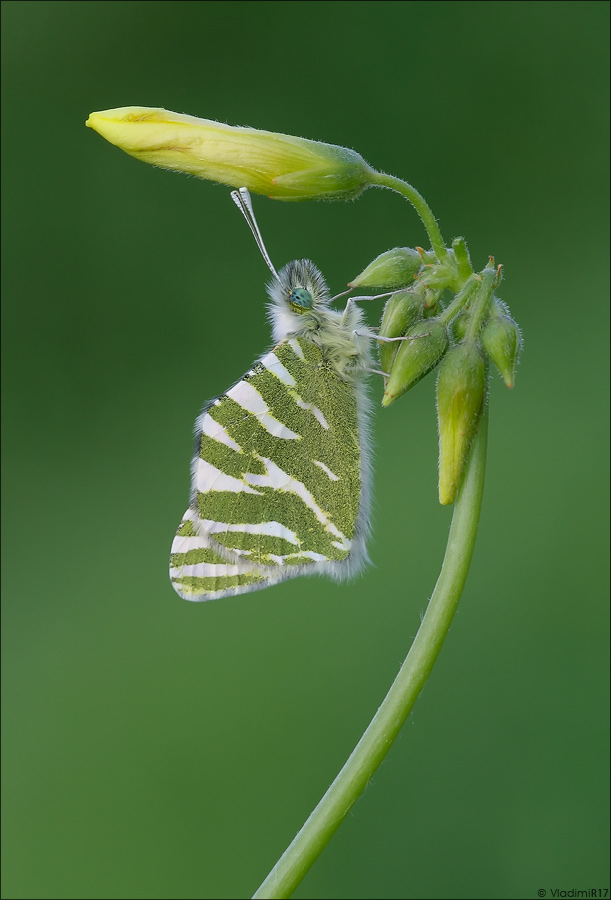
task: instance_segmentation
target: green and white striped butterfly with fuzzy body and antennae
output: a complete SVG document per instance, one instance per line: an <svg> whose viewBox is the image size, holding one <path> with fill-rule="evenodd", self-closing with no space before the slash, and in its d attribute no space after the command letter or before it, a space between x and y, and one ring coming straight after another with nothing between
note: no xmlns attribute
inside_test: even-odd
<svg viewBox="0 0 611 900"><path fill-rule="evenodd" d="M358 333L352 300L330 308L310 260L276 272L248 191L232 197L273 275L274 346L196 420L191 501L170 556L186 600L297 575L343 579L367 562L371 335Z"/></svg>

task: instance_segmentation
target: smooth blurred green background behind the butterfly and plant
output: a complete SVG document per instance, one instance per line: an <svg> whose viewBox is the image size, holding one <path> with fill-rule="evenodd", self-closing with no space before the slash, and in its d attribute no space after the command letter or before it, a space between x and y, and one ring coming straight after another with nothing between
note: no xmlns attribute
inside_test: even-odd
<svg viewBox="0 0 611 900"><path fill-rule="evenodd" d="M268 276L226 188L84 127L124 105L353 147L504 264L524 330L447 644L296 896L608 887L608 12L2 4L3 896L250 896L394 678L451 515L434 379L385 411L376 382L366 574L177 599L193 420L268 346ZM425 241L389 191L255 206L334 291Z"/></svg>

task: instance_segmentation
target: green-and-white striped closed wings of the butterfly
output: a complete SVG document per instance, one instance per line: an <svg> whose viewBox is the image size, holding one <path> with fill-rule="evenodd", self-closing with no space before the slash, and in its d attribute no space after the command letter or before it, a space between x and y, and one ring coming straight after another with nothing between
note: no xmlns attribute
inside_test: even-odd
<svg viewBox="0 0 611 900"><path fill-rule="evenodd" d="M349 573L364 514L357 391L317 346L279 344L204 410L197 431L170 563L181 596Z"/></svg>

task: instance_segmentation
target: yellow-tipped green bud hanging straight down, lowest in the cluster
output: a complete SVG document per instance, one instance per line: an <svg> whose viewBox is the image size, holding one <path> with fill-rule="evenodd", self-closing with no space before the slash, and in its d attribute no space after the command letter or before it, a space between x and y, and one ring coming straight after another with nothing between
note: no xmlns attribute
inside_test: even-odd
<svg viewBox="0 0 611 900"><path fill-rule="evenodd" d="M437 378L439 502L453 503L486 397L486 363L477 344L446 354Z"/></svg>

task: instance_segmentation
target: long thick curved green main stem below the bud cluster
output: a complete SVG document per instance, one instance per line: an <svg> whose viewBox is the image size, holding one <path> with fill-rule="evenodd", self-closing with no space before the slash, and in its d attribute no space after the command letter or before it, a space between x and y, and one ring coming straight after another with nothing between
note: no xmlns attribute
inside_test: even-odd
<svg viewBox="0 0 611 900"><path fill-rule="evenodd" d="M467 580L482 506L487 434L485 412L458 490L441 572L407 658L343 769L254 894L255 898L291 896L367 786L418 699Z"/></svg>

